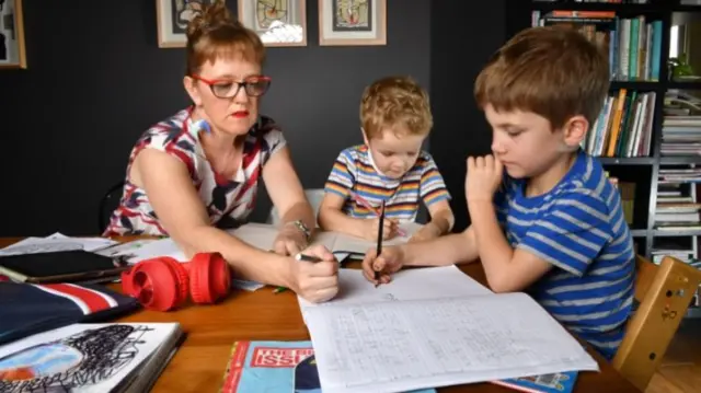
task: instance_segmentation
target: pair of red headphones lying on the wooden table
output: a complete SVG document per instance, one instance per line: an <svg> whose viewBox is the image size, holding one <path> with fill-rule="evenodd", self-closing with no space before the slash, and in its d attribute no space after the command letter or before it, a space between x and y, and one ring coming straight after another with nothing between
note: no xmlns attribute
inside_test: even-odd
<svg viewBox="0 0 701 393"><path fill-rule="evenodd" d="M230 285L229 266L219 253L199 253L187 263L168 256L145 259L122 273L122 290L158 311L181 305L188 290L195 303L215 303Z"/></svg>

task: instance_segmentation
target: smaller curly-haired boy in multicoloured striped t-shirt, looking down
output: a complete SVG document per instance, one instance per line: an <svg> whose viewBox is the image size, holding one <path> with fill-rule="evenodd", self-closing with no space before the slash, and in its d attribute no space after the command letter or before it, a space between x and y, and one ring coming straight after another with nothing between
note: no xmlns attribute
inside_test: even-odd
<svg viewBox="0 0 701 393"><path fill-rule="evenodd" d="M399 224L416 219L426 204L430 222L413 241L450 232L453 224L443 176L422 143L433 127L428 94L412 79L383 78L369 85L360 103L365 145L338 154L319 208L319 226L327 231L377 240L379 215L386 203L383 238Z"/></svg>

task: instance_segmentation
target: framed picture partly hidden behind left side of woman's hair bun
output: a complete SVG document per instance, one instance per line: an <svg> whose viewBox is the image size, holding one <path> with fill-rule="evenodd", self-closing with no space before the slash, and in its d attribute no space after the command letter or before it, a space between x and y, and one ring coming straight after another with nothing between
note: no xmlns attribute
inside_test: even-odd
<svg viewBox="0 0 701 393"><path fill-rule="evenodd" d="M187 23L202 12L204 4L217 1L226 0L156 0L158 46L184 48L187 44Z"/></svg>

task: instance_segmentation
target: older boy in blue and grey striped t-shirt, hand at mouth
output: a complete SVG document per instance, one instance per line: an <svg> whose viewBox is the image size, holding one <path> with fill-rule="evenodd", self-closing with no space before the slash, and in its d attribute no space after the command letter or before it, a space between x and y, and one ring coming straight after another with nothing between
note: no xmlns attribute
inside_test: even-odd
<svg viewBox="0 0 701 393"><path fill-rule="evenodd" d="M366 277L403 265L482 262L495 292L525 290L611 359L633 300L634 253L621 199L578 149L609 88L608 61L575 31L535 27L502 47L474 95L493 155L469 158L472 224L461 234L368 253ZM504 174L504 172L506 172Z"/></svg>

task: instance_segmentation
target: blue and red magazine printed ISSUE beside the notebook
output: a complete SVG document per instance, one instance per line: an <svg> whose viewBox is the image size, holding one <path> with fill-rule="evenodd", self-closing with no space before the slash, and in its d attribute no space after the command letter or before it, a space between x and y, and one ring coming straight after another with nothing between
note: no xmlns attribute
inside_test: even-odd
<svg viewBox="0 0 701 393"><path fill-rule="evenodd" d="M321 393L311 342L234 343L221 392Z"/></svg>

